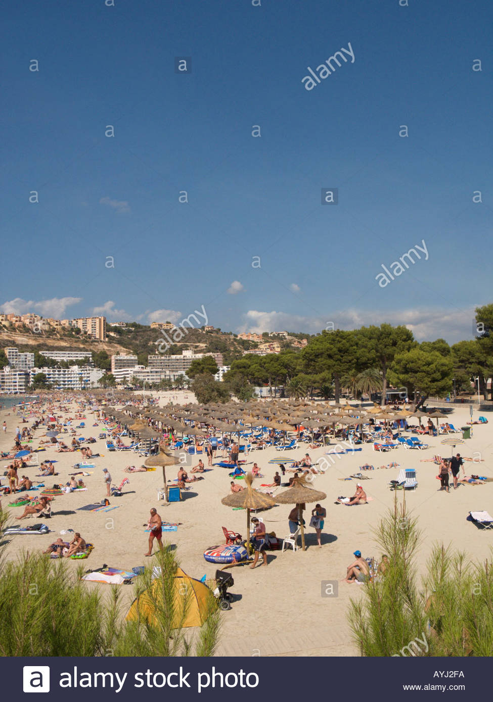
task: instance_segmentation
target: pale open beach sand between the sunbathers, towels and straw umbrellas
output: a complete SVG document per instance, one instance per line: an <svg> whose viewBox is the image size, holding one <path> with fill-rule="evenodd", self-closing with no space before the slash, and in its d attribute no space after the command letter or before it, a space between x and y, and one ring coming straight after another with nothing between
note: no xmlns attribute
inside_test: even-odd
<svg viewBox="0 0 493 702"><path fill-rule="evenodd" d="M147 394L148 395L148 394ZM181 404L191 402L191 392L155 393L160 396L160 405L173 402ZM76 405L70 404L70 411L63 414L64 418L75 416ZM45 412L46 413L46 412ZM59 414L57 412L57 414ZM86 428L82 434L85 437L98 437L104 430L101 422L97 426L96 415L89 411L85 415ZM25 416L27 424L23 425ZM475 411L473 420L478 419ZM2 451L8 451L13 446L15 428L32 425L29 412L15 416L12 409L4 409L0 413L0 423L6 421L7 431L1 435ZM454 412L447 418L456 428L466 425L469 420L468 406L454 406ZM79 421L72 424L77 425ZM46 428L34 432L32 446L37 449L39 439L43 437ZM79 434L78 434L79 435ZM456 435L461 436L461 435ZM60 438L70 443L69 435ZM312 485L315 489L326 492L327 499L323 506L327 510L322 548L316 545L314 529L307 526L307 550L288 550L267 552L268 567L257 567L253 572L248 567L236 567L231 573L235 584L231 588L237 595L232 609L222 613L222 632L220 636L218 656L353 656L358 655L357 648L351 639L350 628L347 624L347 608L350 598L361 597L358 585L347 585L341 580L345 569L353 559L354 550L361 550L364 557L380 557L371 530L376 526L380 517L393 504L395 493L390 491L390 479L397 478L399 468L415 468L418 479L416 491L406 491L405 498L409 508L418 517L418 526L423 532L423 543L418 554L418 571L423 573L425 563L433 547L433 543L444 543L446 548L455 548L466 552L472 560L485 559L490 555L493 545L493 531L482 531L466 521L469 510L488 510L493 512L493 483L475 486L459 485L459 489L451 489L447 494L439 491L437 481L437 466L432 462L421 462L423 458L432 458L434 454L450 456L450 447L440 444L442 436L423 437L423 442L430 447L423 451L404 450L402 446L387 453L376 453L372 444L362 444L362 450L346 456L335 456L334 465L325 472L317 475ZM71 440L71 437L70 437ZM128 443L128 437L124 438ZM335 444L335 439L332 439ZM324 456L330 447L309 450L302 444L296 451L286 452L286 458L301 458L309 451L313 461ZM232 510L221 504L221 498L229 494L231 478L229 470L215 467L205 472L204 479L191 485L184 493L180 503L163 503L158 501L158 489L162 487L162 472L124 472L127 465L141 465L139 458L130 451L108 452L103 439L91 444L94 453L102 456L95 458L96 468L91 468L92 474L84 477L88 490L73 492L58 496L53 502L54 515L46 523L51 534L46 536L15 536L6 547L6 557L14 559L23 549L41 550L46 548L60 531L74 529L94 543L94 550L84 567L95 569L106 563L112 567L132 569L143 565L148 559L144 557L147 548L148 534L143 527L147 522L149 510L157 508L163 520L179 522L177 532L164 534L163 538L177 546L181 567L189 575L207 578L215 575L216 566L205 562L203 551L212 545L224 543L222 526L227 529L245 534L245 512ZM493 477L493 422L487 425L474 425L473 436L466 440L458 451L463 456L482 458L482 463L466 463L466 475L471 472L478 475ZM456 451L454 451L456 453ZM260 483L270 483L276 467L269 465L271 458L279 458L282 453L276 449L253 451L248 456L246 470L256 461L264 478L257 479L254 487ZM69 473L74 472L72 466L82 459L80 453L56 453L46 450L39 453L39 461L44 458L56 460L56 477L45 479L45 485L51 487L54 483L65 484ZM190 468L198 462L198 456L187 456L186 466ZM218 459L219 460L219 459ZM397 461L399 468L383 469L381 465ZM205 461L206 463L206 461ZM364 472L369 479L363 481L364 489L372 498L366 505L347 508L335 504L340 495L350 496L356 489L356 479L345 480L359 466L370 463L376 470ZM7 460L2 463L3 473ZM19 471L34 481L38 466L30 465ZM77 508L89 503L96 503L104 498L106 491L103 483L103 468L108 468L113 477L113 484L120 484L124 477L129 478L129 484L124 487L120 498L110 498L111 506L117 507L109 512L80 512ZM177 468L167 469L167 478L176 477ZM288 474L290 475L290 474ZM2 484L6 478L2 476ZM35 493L31 493L34 495ZM398 494L402 499L402 492ZM10 499L1 498L4 508ZM314 505L307 505L305 518L309 522L309 512ZM11 508L11 517L22 513L23 508ZM288 533L289 505L277 505L271 510L262 512L267 531L275 531L283 538ZM37 520L38 521L38 520ZM16 522L12 519L12 522ZM19 522L17 522L19 523ZM22 523L22 522L21 522ZM34 523L33 519L25 519L25 524ZM77 567L76 562L70 562L70 567ZM322 597L322 581L338 581L337 597ZM88 587L107 588L107 585L89 584ZM125 597L132 600L132 588L124 588ZM108 588L109 589L109 588ZM241 597L240 597L241 596Z"/></svg>

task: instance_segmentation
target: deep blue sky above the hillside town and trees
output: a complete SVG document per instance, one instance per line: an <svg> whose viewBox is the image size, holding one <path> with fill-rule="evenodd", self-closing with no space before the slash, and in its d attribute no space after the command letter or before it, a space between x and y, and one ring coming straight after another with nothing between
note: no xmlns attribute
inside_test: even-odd
<svg viewBox="0 0 493 702"><path fill-rule="evenodd" d="M492 301L491 3L4 14L1 310L148 323L204 305L232 331L392 322L471 337ZM307 68L349 44L354 62L307 91ZM337 205L321 204L327 187ZM423 240L428 260L380 287L382 265Z"/></svg>

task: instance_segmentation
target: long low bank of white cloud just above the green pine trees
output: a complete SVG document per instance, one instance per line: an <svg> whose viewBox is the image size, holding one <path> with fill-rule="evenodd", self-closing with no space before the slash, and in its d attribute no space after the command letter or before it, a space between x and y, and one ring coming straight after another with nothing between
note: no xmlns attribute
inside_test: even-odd
<svg viewBox="0 0 493 702"><path fill-rule="evenodd" d="M311 334L322 329L358 329L360 326L377 326L388 322L404 324L418 341L444 338L449 343L473 337L474 308L468 310L439 307L395 312L379 310L345 310L326 314L325 317L303 317L287 312L260 312L248 310L238 332L262 333L275 329L300 331Z"/></svg>

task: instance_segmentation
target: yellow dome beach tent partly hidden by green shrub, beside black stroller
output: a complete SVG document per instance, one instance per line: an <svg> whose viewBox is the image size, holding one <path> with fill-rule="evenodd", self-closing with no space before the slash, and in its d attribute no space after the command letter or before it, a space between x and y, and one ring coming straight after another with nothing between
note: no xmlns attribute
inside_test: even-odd
<svg viewBox="0 0 493 702"><path fill-rule="evenodd" d="M154 611L155 604L162 597L160 587L162 587L162 581L160 578L156 578L151 587L132 602L132 607L130 607L126 617L128 621L137 621L140 617L150 624L158 625ZM212 597L212 592L205 583L191 578L181 568L178 568L177 574L174 576L175 614L173 628L179 626L183 616L182 626L202 626L207 619L210 597Z"/></svg>

